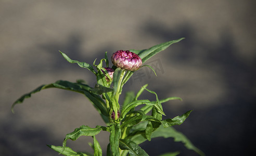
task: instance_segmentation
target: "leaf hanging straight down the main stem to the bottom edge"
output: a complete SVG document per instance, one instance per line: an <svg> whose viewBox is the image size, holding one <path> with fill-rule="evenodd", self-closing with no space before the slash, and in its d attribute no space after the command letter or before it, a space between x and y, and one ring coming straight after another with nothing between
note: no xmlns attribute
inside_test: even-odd
<svg viewBox="0 0 256 156"><path fill-rule="evenodd" d="M119 139L121 137L120 124L112 124L110 126L109 143L112 151L112 155L119 156Z"/></svg>

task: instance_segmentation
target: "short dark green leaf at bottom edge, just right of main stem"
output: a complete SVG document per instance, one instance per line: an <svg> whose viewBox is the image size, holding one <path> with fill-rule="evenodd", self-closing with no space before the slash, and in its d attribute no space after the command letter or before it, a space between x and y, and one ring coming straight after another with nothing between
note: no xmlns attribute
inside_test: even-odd
<svg viewBox="0 0 256 156"><path fill-rule="evenodd" d="M142 148L140 148L135 142L129 139L120 139L119 147L122 150L129 150L129 154L134 156L146 156L148 155Z"/></svg>

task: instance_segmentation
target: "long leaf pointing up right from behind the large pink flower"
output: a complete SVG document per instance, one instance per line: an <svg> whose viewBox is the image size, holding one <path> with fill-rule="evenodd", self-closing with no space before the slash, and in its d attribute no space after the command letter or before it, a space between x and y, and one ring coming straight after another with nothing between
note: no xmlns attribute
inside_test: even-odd
<svg viewBox="0 0 256 156"><path fill-rule="evenodd" d="M174 43L177 43L177 42L180 42L183 39L184 38L180 38L178 40L173 40L173 41L161 43L161 44L158 44L156 46L153 46L153 47L145 49L145 50L134 50L134 49L131 49L130 51L138 54L138 56L142 59L142 62L144 63L145 61L147 61L149 58L151 58L152 56L156 55L160 51L165 50L170 45L172 45Z"/></svg>

